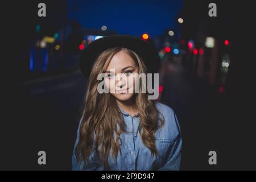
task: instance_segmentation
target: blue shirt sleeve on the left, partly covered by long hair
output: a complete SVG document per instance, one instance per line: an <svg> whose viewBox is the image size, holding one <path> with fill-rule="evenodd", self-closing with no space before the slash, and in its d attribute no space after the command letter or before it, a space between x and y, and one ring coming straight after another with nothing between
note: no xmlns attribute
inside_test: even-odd
<svg viewBox="0 0 256 182"><path fill-rule="evenodd" d="M81 125L81 121L82 119L80 119L79 122L79 127L77 129L77 137L76 137L76 142L75 142L75 147L73 149L73 155L72 155L72 170L73 171L93 171L93 170L97 170L98 168L98 164L96 162L96 160L93 160L93 156L95 153L93 153L90 157L89 157L89 163L85 163L84 161L77 161L76 155L75 155L75 148L79 142L79 136L80 136L80 125Z"/></svg>

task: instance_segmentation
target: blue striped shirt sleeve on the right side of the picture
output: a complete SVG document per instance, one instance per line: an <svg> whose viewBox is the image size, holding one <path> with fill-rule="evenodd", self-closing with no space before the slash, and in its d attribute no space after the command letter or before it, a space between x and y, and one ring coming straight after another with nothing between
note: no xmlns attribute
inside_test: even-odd
<svg viewBox="0 0 256 182"><path fill-rule="evenodd" d="M167 160L164 162L163 166L158 169L159 171L178 171L180 169L182 138L176 114L173 114L172 119L175 121L175 130L177 132L175 134L174 143L170 146L170 150L168 150Z"/></svg>

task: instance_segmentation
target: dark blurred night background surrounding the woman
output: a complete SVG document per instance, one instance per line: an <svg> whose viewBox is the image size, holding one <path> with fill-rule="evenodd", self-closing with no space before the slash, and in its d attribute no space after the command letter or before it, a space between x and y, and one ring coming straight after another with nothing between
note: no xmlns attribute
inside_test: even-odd
<svg viewBox="0 0 256 182"><path fill-rule="evenodd" d="M88 35L141 37L145 32L159 52L166 42L185 51L184 55L166 52L162 58L159 98L174 109L180 122L181 169L255 170L252 6L244 1L42 2L47 6L46 18L37 16L39 1L2 5L1 170L71 169L87 82L77 67L81 40ZM217 4L217 17L208 16L210 2ZM180 17L182 24L177 23ZM108 31L101 31L104 24ZM173 37L168 36L169 30L175 32ZM36 41L55 32L62 32L61 38L47 44L47 71L31 70ZM218 41L217 53L211 54L204 46L207 36ZM197 74L194 63L199 64L199 54L189 52L189 40L196 48L204 48L205 60L217 57L213 82L209 81L210 66L204 67L203 76ZM228 46L224 40L229 40ZM56 44L61 46L59 52L54 51ZM225 54L230 56L230 66L223 77ZM34 61L42 58L38 55ZM38 165L40 150L46 151L46 166ZM208 164L211 150L217 152L217 165Z"/></svg>

